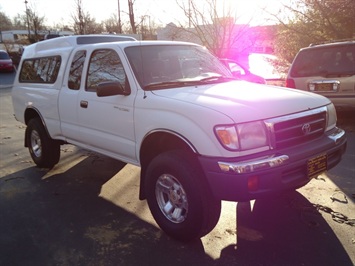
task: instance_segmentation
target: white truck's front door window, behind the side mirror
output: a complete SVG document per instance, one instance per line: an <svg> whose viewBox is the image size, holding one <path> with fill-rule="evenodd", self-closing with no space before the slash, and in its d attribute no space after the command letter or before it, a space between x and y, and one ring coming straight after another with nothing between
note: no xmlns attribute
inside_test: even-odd
<svg viewBox="0 0 355 266"><path fill-rule="evenodd" d="M103 82L118 82L125 90L128 89L126 73L122 62L114 50L101 49L92 53L86 81L87 91L96 91Z"/></svg>

